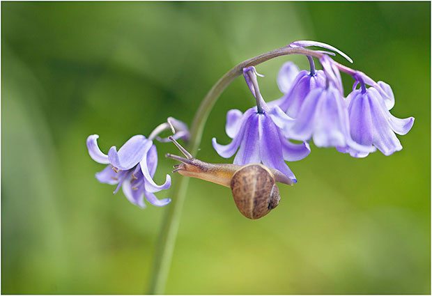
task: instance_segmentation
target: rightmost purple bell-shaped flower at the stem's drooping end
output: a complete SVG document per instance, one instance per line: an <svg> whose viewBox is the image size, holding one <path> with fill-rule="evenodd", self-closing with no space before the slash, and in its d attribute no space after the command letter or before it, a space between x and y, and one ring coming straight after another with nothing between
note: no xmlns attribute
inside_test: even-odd
<svg viewBox="0 0 432 296"><path fill-rule="evenodd" d="M414 124L414 118L401 119L390 114L389 109L394 106L392 88L383 81L378 81L378 84L369 82L375 86L366 88L362 78L364 75L357 75L361 87L353 90L347 98L351 137L363 146L376 147L384 155L391 155L402 149L396 134L407 134ZM353 148L342 152L355 157L369 154Z"/></svg>

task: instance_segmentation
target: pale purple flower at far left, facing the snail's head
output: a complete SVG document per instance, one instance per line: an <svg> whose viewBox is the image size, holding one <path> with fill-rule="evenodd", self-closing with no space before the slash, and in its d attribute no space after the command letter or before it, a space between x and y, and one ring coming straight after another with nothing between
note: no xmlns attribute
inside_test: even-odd
<svg viewBox="0 0 432 296"><path fill-rule="evenodd" d="M130 138L117 151L115 146L109 149L108 155L102 153L98 146L98 135L92 134L87 138L87 148L90 157L100 164L108 166L96 173L99 182L109 185L117 185L114 194L120 187L128 200L141 208L145 207L146 200L157 206L167 205L171 199L159 200L155 192L168 189L171 186L171 177L167 178L162 185L153 181L157 167L157 152L153 141L142 135Z"/></svg>

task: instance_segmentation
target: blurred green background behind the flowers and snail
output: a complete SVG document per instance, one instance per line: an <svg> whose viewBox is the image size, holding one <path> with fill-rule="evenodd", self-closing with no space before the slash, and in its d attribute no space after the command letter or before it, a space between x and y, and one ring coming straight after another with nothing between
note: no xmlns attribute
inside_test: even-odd
<svg viewBox="0 0 432 296"><path fill-rule="evenodd" d="M166 208L131 205L94 178L85 140L121 146L168 116L187 123L233 65L319 40L390 84L415 116L403 150L354 159L312 147L290 163L270 215L240 215L229 189L191 180L167 293L431 292L430 3L1 3L1 292L142 293ZM259 65L266 100L284 56ZM343 61L337 57L337 61ZM343 61L344 62L344 61ZM346 63L346 62L344 62ZM346 91L350 77L344 77ZM254 104L241 78L208 118L198 157L229 162L226 111ZM156 181L177 152L157 144ZM172 192L160 192L160 198ZM169 206L169 205L168 205Z"/></svg>

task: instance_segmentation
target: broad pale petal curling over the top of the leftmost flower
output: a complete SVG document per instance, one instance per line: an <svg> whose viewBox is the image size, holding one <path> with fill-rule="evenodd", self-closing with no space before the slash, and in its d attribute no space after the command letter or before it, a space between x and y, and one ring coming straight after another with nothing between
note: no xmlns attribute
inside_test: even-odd
<svg viewBox="0 0 432 296"><path fill-rule="evenodd" d="M109 162L121 170L132 169L143 159L151 145L153 145L153 142L146 139L146 137L142 135L134 136L121 146L118 152L116 146L109 149Z"/></svg>

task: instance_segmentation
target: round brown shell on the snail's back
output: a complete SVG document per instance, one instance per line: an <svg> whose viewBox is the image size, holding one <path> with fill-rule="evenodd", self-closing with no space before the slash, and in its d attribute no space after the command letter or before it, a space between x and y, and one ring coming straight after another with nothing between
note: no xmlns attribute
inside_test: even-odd
<svg viewBox="0 0 432 296"><path fill-rule="evenodd" d="M238 210L249 219L267 215L281 198L275 176L262 164L249 164L236 171L231 191Z"/></svg>

